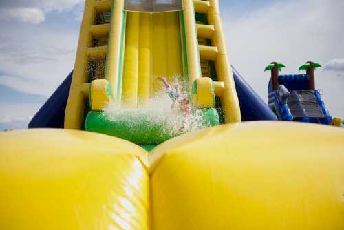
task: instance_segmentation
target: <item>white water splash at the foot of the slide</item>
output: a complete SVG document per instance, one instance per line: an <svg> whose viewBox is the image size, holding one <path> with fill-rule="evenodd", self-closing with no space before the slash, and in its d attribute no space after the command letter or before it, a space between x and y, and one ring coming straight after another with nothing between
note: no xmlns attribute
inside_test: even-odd
<svg viewBox="0 0 344 230"><path fill-rule="evenodd" d="M188 95L186 83L176 81L174 85L183 95ZM199 109L192 108L190 114L184 114L178 109L173 109L172 105L171 98L162 91L153 95L148 107L120 109L114 104L108 104L103 111L107 120L125 125L129 132L135 133L136 129L141 127L141 131L144 129L147 136L154 132L166 140L204 127L204 118Z"/></svg>

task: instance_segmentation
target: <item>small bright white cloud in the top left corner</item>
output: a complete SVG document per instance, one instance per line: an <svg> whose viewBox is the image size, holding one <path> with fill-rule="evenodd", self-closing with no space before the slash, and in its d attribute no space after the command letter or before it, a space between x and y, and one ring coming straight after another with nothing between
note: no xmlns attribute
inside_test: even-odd
<svg viewBox="0 0 344 230"><path fill-rule="evenodd" d="M45 21L45 14L39 8L1 8L0 20L39 24Z"/></svg>

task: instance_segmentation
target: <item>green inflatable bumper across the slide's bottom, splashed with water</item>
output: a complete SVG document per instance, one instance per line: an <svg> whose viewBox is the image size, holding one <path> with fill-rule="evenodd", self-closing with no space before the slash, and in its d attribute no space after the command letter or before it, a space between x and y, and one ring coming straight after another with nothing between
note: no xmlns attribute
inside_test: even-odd
<svg viewBox="0 0 344 230"><path fill-rule="evenodd" d="M87 114L85 130L116 136L137 145L158 145L185 132L219 125L216 109L197 109L185 118L173 112L117 110ZM180 128L184 130L180 132Z"/></svg>

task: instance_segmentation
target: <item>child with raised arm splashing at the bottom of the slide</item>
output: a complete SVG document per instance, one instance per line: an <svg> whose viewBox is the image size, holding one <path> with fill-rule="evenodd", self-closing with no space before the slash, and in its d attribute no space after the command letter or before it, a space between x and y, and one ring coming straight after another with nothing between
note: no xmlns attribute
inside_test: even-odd
<svg viewBox="0 0 344 230"><path fill-rule="evenodd" d="M191 114L191 105L190 100L186 95L180 93L180 89L178 85L174 87L169 84L164 77L158 77L158 80L162 81L166 87L166 92L169 95L169 98L173 101L172 109L178 109L183 113L184 118ZM186 125L186 119L184 119L182 123L182 127L178 130L178 132L184 132L184 128Z"/></svg>

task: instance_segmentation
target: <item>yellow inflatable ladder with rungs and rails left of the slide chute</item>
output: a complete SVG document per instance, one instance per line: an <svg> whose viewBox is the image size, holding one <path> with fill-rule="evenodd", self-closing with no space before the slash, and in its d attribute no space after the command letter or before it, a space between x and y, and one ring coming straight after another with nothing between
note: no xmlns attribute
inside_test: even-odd
<svg viewBox="0 0 344 230"><path fill-rule="evenodd" d="M65 112L65 129L80 129L86 101L89 97L89 61L107 60L105 78L111 85L113 98L118 98L118 79L122 71L122 31L124 30L123 0L86 0L83 21L80 28L78 50ZM96 25L99 13L111 12L111 23ZM94 46L93 40L108 37L108 44Z"/></svg>

